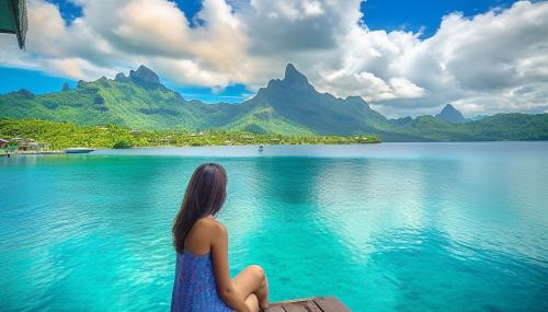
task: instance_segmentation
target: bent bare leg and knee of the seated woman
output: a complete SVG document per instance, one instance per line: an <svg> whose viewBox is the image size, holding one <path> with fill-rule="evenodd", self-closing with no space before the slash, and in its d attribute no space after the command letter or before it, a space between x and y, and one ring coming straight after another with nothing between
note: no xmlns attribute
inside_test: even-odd
<svg viewBox="0 0 548 312"><path fill-rule="evenodd" d="M269 281L262 267L258 265L248 266L232 279L232 282L236 289L243 294L246 302L250 294L254 294L260 308L269 307Z"/></svg>

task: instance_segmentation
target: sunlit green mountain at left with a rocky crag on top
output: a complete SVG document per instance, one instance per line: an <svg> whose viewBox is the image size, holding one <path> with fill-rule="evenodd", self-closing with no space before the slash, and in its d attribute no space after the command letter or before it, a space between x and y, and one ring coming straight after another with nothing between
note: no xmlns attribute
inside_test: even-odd
<svg viewBox="0 0 548 312"><path fill-rule="evenodd" d="M118 74L114 80L103 77L93 82L80 81L73 90L43 95L22 90L0 96L1 117L140 129L201 127L205 115L202 106L160 84L156 73L142 66L127 78Z"/></svg>

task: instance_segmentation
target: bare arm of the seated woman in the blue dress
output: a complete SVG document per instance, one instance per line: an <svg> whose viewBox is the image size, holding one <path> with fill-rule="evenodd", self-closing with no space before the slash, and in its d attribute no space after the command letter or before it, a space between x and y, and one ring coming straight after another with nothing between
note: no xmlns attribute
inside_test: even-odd
<svg viewBox="0 0 548 312"><path fill-rule="evenodd" d="M246 305L244 298L238 293L236 288L232 286L232 280L230 279L227 229L217 222L214 227L212 257L219 297L236 311L247 312L248 307Z"/></svg>

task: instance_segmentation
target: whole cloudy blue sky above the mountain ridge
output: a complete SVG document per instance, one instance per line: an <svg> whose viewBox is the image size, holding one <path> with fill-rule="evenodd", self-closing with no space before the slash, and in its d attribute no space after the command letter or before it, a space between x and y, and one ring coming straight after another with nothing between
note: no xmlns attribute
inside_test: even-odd
<svg viewBox="0 0 548 312"><path fill-rule="evenodd" d="M0 93L145 65L189 100L238 103L288 62L390 117L548 112L548 1L28 0L0 34Z"/></svg>

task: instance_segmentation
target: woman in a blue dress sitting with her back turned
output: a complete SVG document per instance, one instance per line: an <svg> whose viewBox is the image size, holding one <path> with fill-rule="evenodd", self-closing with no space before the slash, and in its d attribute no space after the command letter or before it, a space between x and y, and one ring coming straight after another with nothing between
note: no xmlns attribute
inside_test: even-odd
<svg viewBox="0 0 548 312"><path fill-rule="evenodd" d="M206 163L194 171L173 224L176 268L171 311L256 312L269 305L260 266L248 266L230 279L227 229L215 220L226 196L222 166Z"/></svg>

